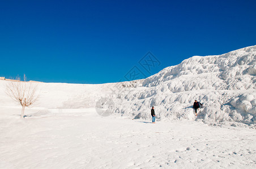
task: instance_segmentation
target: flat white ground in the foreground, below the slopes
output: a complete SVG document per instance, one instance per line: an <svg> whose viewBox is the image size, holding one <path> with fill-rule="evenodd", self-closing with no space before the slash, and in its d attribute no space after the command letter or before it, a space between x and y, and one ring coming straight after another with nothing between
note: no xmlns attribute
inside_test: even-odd
<svg viewBox="0 0 256 169"><path fill-rule="evenodd" d="M93 109L21 120L19 114L7 113L15 109L1 110L0 168L256 167L252 128L194 121L152 124L101 117Z"/></svg>

